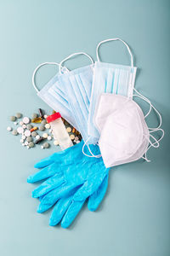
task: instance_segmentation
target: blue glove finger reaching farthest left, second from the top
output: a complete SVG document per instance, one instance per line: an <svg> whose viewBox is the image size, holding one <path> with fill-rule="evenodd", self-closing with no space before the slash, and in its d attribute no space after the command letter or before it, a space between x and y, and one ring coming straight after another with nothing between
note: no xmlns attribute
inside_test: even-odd
<svg viewBox="0 0 170 256"><path fill-rule="evenodd" d="M42 168L41 171L39 172L36 172L35 174L33 175L30 175L28 178L27 178L27 183L36 183L38 181L41 181L42 179L44 178L48 178L48 177L51 177L53 176L56 172L59 172L59 166L56 166L55 163L49 165L49 166L46 166L44 168Z"/></svg>

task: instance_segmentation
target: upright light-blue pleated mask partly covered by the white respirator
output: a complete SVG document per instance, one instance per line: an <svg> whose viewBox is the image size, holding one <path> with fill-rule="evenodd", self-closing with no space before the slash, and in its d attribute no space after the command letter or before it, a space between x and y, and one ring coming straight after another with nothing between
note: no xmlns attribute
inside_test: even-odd
<svg viewBox="0 0 170 256"><path fill-rule="evenodd" d="M131 66L104 63L99 60L99 46L105 42L115 40L119 40L126 45L127 51L131 57ZM106 92L132 98L137 69L133 67L133 55L131 50L122 39L111 38L100 42L96 49L96 55L97 61L94 64L94 79L88 116L88 135L94 138L95 143L99 141L99 131L94 125L94 112L100 94Z"/></svg>

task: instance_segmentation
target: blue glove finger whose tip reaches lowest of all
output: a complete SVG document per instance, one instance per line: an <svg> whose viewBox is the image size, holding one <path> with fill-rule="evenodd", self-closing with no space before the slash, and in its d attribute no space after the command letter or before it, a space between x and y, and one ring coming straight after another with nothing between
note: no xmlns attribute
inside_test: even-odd
<svg viewBox="0 0 170 256"><path fill-rule="evenodd" d="M71 205L68 208L68 211L65 213L64 218L61 221L61 227L66 229L68 228L73 220L77 217L78 212L82 209L85 200L83 201L71 201Z"/></svg>

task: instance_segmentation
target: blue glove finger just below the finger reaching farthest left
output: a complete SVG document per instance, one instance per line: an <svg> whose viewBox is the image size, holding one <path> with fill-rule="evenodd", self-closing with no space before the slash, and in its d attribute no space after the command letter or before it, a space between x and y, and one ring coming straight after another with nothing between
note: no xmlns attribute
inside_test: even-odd
<svg viewBox="0 0 170 256"><path fill-rule="evenodd" d="M56 189L65 183L65 179L62 173L56 173L53 177L49 177L44 183L42 183L37 189L32 191L32 197L37 198L44 194L47 194L52 189Z"/></svg>

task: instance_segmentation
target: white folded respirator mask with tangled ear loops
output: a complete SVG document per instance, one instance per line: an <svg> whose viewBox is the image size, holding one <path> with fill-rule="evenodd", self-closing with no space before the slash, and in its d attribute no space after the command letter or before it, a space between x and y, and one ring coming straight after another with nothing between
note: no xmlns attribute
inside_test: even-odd
<svg viewBox="0 0 170 256"><path fill-rule="evenodd" d="M137 90L136 92L138 93ZM148 102L150 109L154 108L144 96L140 94L134 96L139 96ZM146 157L147 150L151 146L158 148L159 141L164 135L164 131L160 129L160 113L156 110L160 118L160 125L156 128L149 128L145 122L145 117L149 113L144 116L139 105L126 96L105 93L99 97L94 119L100 133L99 149L106 167L139 160L143 155L143 158L149 161ZM162 132L158 141L151 134L155 131ZM150 141L150 137L154 143Z"/></svg>

